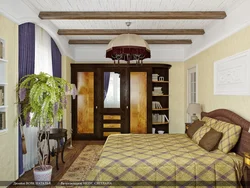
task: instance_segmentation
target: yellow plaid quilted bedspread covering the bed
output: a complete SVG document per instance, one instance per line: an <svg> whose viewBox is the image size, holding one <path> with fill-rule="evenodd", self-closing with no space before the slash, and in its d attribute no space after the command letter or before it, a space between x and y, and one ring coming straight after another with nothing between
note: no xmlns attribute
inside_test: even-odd
<svg viewBox="0 0 250 188"><path fill-rule="evenodd" d="M111 135L86 181L103 187L238 187L242 166L242 157L207 152L185 134Z"/></svg>

